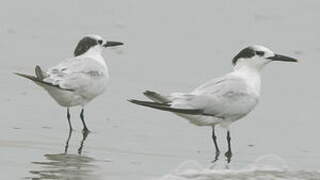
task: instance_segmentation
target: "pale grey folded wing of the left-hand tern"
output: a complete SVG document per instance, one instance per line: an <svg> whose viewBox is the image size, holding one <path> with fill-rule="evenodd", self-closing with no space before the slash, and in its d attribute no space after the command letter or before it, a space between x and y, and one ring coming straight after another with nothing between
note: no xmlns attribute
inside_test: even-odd
<svg viewBox="0 0 320 180"><path fill-rule="evenodd" d="M72 58L50 68L44 81L76 90L90 86L93 78L104 73L106 72L103 66L91 58Z"/></svg>

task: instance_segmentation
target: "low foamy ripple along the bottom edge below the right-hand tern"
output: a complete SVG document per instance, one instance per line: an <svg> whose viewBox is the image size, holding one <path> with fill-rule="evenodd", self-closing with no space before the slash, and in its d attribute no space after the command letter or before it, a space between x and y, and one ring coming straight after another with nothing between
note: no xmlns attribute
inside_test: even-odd
<svg viewBox="0 0 320 180"><path fill-rule="evenodd" d="M276 156L275 156L276 157ZM275 160L273 156L260 158L258 162L243 169L212 169L202 168L197 162L187 161L173 173L165 175L158 180L316 180L320 178L320 171L290 170L284 167L276 167L275 164L265 165L265 160ZM279 160L279 159L278 159ZM261 164L263 163L263 166Z"/></svg>

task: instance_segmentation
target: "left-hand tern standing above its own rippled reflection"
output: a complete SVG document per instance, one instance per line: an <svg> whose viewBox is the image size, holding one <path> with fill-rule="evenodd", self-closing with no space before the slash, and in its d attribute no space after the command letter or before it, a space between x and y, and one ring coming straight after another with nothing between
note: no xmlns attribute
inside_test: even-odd
<svg viewBox="0 0 320 180"><path fill-rule="evenodd" d="M98 35L86 35L77 44L74 57L43 71L35 67L35 75L15 73L43 87L61 106L67 108L69 129L72 130L69 108L81 106L80 118L83 132L89 132L84 120L84 106L102 94L109 80L108 66L101 55L102 50L122 42L106 41Z"/></svg>

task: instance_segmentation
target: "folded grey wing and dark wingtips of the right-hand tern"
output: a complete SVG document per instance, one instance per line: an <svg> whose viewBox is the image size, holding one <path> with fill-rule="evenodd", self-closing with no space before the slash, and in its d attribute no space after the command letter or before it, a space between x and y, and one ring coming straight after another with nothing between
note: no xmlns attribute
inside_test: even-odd
<svg viewBox="0 0 320 180"><path fill-rule="evenodd" d="M172 93L163 96L153 91L144 92L154 102L132 100L132 103L179 114L240 117L249 113L258 98L247 91L247 84L233 76L209 81L191 93Z"/></svg>

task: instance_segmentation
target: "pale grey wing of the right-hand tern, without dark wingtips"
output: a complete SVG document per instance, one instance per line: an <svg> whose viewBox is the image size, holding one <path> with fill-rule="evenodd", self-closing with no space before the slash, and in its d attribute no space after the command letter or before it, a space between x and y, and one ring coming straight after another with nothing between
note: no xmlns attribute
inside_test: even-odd
<svg viewBox="0 0 320 180"><path fill-rule="evenodd" d="M220 118L243 116L258 100L247 91L244 80L233 76L214 79L189 94L173 96L173 107L202 109L205 115Z"/></svg>

